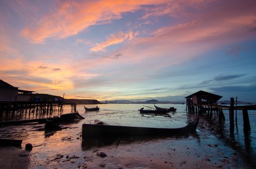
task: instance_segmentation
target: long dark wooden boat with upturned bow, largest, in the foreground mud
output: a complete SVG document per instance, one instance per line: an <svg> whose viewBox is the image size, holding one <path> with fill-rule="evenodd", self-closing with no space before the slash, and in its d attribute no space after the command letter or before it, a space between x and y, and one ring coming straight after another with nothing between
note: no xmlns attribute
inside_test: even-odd
<svg viewBox="0 0 256 169"><path fill-rule="evenodd" d="M189 134L195 132L198 121L199 116L193 123L180 128L152 128L83 124L82 139L117 136L171 136Z"/></svg>

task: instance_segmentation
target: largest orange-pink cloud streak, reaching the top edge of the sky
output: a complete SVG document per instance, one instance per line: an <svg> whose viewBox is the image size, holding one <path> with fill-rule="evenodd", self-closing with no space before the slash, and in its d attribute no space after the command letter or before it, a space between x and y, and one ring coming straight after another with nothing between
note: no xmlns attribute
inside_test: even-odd
<svg viewBox="0 0 256 169"><path fill-rule="evenodd" d="M47 38L66 38L91 25L109 23L120 19L122 13L133 12L141 5L159 4L164 0L98 0L66 1L60 3L57 10L24 28L21 34L33 43L43 43Z"/></svg>

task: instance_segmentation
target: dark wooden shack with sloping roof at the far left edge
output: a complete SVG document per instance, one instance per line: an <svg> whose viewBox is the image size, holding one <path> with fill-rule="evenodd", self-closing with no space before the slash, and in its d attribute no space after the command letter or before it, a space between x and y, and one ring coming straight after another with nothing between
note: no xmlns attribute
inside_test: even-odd
<svg viewBox="0 0 256 169"><path fill-rule="evenodd" d="M18 87L0 80L0 101L16 101Z"/></svg>

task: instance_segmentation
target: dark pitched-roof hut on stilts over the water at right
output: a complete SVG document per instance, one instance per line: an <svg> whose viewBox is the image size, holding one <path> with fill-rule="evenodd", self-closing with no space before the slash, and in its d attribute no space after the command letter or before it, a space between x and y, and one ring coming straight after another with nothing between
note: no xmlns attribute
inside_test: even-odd
<svg viewBox="0 0 256 169"><path fill-rule="evenodd" d="M185 97L187 103L186 109L189 113L199 113L202 115L206 111L203 109L203 105L210 107L210 105L217 104L217 101L221 98L222 96L200 90Z"/></svg>

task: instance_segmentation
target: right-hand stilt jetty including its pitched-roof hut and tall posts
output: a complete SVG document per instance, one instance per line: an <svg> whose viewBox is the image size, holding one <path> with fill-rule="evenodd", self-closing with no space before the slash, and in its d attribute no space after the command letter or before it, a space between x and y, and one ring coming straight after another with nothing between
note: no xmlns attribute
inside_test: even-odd
<svg viewBox="0 0 256 169"><path fill-rule="evenodd" d="M225 121L225 116L223 110L229 111L229 122L230 122L230 132L234 131L234 111L242 110L243 115L243 131L244 135L250 135L251 126L248 116L248 110L256 110L256 105L245 105L245 106L234 106L234 98L230 98L230 106L218 105L217 101L222 98L222 96L208 93L205 91L198 91L192 95L185 97L186 100L186 110L188 113L198 113L199 115L205 115L209 120L212 119L213 115L219 117L219 123ZM237 118L236 118L237 124Z"/></svg>

